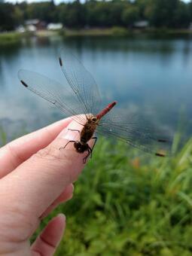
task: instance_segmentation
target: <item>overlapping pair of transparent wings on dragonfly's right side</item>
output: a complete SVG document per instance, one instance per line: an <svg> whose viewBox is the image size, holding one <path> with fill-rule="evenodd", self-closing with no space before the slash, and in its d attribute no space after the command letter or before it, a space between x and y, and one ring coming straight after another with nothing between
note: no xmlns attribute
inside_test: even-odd
<svg viewBox="0 0 192 256"><path fill-rule="evenodd" d="M170 155L172 138L156 127L149 127L144 120L134 115L110 111L99 123L98 133L113 136L142 151L164 157Z"/></svg>

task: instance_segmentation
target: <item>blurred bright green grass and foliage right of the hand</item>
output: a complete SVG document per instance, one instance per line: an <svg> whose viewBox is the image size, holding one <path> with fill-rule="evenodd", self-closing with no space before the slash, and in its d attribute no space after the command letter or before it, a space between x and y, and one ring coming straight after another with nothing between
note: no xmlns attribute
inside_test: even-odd
<svg viewBox="0 0 192 256"><path fill-rule="evenodd" d="M56 255L190 255L192 140L175 157L102 138L75 195L48 216L67 216Z"/></svg>

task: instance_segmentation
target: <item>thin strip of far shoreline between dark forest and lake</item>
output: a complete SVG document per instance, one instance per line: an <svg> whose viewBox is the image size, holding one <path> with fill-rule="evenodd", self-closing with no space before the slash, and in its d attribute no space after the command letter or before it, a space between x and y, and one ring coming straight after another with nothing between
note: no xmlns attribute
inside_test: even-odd
<svg viewBox="0 0 192 256"><path fill-rule="evenodd" d="M19 44L21 39L37 36L38 38L43 37L86 37L86 36L135 36L135 35L154 35L157 37L171 37L178 35L192 35L192 29L126 29L123 27L112 27L112 28L94 28L94 29L62 29L62 30L38 30L36 32L0 32L0 47L9 46L12 44Z"/></svg>

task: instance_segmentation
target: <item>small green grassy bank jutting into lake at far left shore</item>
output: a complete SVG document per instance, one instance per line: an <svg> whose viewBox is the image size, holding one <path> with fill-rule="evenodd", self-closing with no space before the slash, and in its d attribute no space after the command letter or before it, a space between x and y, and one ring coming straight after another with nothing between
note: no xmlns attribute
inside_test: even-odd
<svg viewBox="0 0 192 256"><path fill-rule="evenodd" d="M0 47L12 44L19 44L21 40L21 34L17 32L4 32L0 33Z"/></svg>

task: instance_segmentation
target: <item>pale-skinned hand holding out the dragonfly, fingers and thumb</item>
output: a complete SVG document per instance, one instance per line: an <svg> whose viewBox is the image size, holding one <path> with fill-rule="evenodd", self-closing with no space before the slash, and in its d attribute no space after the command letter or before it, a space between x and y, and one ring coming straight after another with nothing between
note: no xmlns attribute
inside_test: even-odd
<svg viewBox="0 0 192 256"><path fill-rule="evenodd" d="M75 151L69 140L82 130L71 118L60 120L0 148L0 255L50 256L66 228L63 214L53 218L30 245L42 218L72 198L73 182L87 154ZM91 146L91 145L90 145Z"/></svg>

